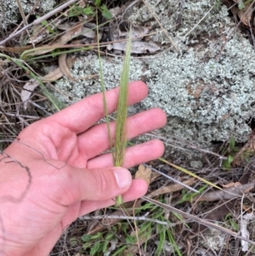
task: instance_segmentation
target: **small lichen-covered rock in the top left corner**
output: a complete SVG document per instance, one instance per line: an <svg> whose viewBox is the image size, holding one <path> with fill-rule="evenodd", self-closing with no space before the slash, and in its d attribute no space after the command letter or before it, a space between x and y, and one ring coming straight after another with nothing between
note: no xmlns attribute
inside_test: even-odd
<svg viewBox="0 0 255 256"><path fill-rule="evenodd" d="M37 2L37 0L20 0L25 14L29 14ZM3 6L0 5L1 26L6 27L20 20L20 10L16 0L3 0L2 3ZM55 0L41 0L32 14L46 14L54 9L55 4Z"/></svg>

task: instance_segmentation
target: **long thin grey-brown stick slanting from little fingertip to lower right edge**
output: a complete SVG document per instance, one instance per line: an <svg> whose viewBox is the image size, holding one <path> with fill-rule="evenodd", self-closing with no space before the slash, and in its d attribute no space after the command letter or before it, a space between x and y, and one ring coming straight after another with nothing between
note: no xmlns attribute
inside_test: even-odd
<svg viewBox="0 0 255 256"><path fill-rule="evenodd" d="M255 245L255 241L249 240L249 239L247 239L247 238L244 237L244 236L239 236L239 235L237 235L234 231L225 229L224 227L221 227L221 226L219 226L219 225L216 225L216 224L214 224L214 223L211 223L211 222L207 221L206 219L198 218L198 217L196 217L196 216L191 215L190 213L184 213L183 211L178 210L177 208L173 208L172 206L167 205L167 204L162 203L162 202L157 202L156 200L151 199L150 197L147 197L147 196L143 196L143 197L141 197L141 198L142 198L144 201L154 203L155 205L157 205L157 206L159 206L159 207L161 207L161 208L164 208L164 209L167 209L167 210L169 210L169 211L172 211L173 213L177 213L177 214L183 216L184 218L192 219L192 220L194 220L195 222L200 223L201 225L206 225L206 226L209 227L209 228L212 228L212 229L214 229L214 230L219 230L219 231L221 231L221 232L224 232L224 233L229 234L230 236L234 236L235 238L239 238L239 239L241 239L241 240L244 240L244 241L246 241L246 242L250 242L250 243L252 243L253 245Z"/></svg>

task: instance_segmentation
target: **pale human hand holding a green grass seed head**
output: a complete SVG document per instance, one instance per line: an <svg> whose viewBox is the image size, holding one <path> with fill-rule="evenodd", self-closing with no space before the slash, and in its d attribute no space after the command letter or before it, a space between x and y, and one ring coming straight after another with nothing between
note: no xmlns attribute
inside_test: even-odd
<svg viewBox="0 0 255 256"><path fill-rule="evenodd" d="M106 92L116 110L119 88ZM131 82L128 104L143 100L144 82ZM113 168L102 94L92 95L25 128L0 159L0 255L48 255L75 219L147 191L127 169L162 155L159 140L127 148L123 168ZM152 109L127 118L127 138L161 128L166 116ZM114 134L115 123L111 122ZM8 157L7 157L8 156ZM31 177L31 179L29 178Z"/></svg>

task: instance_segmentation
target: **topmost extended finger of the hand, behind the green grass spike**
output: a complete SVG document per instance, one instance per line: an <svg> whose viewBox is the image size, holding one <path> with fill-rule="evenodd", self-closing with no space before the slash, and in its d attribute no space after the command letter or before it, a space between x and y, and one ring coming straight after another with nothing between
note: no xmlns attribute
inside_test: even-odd
<svg viewBox="0 0 255 256"><path fill-rule="evenodd" d="M105 92L108 113L116 111L119 87ZM128 84L128 105L143 100L148 94L148 87L144 82L130 82ZM58 122L72 132L80 134L90 128L95 122L105 117L103 94L94 94L74 105L59 111L54 116L48 117L50 122Z"/></svg>

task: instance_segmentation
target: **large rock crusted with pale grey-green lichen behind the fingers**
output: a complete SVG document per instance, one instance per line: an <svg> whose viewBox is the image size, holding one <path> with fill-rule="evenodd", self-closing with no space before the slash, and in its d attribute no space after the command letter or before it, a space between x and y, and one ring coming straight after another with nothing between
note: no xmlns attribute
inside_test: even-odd
<svg viewBox="0 0 255 256"><path fill-rule="evenodd" d="M155 1L146 2L153 6ZM185 1L179 6L171 0L151 8L179 51L133 58L130 63L130 80L143 79L150 87L142 107L161 107L169 119L167 134L200 145L230 137L245 141L250 133L246 122L255 108L254 50L235 28L227 9L214 3ZM146 6L133 7L130 14L136 24L157 24ZM160 26L156 30L160 32L147 39L169 46L170 38ZM102 57L102 63L105 87L116 87L122 59ZM78 99L99 92L96 56L78 58L73 73L78 82L62 79L57 88Z"/></svg>

